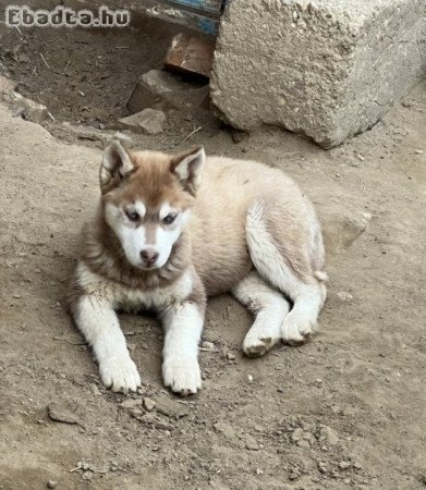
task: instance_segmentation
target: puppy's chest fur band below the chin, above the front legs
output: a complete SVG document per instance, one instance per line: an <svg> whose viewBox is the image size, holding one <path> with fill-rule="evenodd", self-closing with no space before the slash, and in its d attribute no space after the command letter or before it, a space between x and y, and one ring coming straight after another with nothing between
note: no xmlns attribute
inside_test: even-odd
<svg viewBox="0 0 426 490"><path fill-rule="evenodd" d="M136 313L143 309L161 309L179 304L192 291L192 278L185 272L165 287L138 290L127 287L92 272L83 262L78 265L78 281L84 291L100 302L109 303L114 309Z"/></svg>

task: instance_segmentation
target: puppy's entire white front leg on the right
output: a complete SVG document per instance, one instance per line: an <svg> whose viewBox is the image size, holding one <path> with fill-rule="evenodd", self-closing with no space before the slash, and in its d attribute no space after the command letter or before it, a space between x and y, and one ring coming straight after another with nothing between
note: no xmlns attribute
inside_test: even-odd
<svg viewBox="0 0 426 490"><path fill-rule="evenodd" d="M166 387L181 394L202 388L198 342L204 316L193 303L171 306L161 316L165 327L162 379Z"/></svg>

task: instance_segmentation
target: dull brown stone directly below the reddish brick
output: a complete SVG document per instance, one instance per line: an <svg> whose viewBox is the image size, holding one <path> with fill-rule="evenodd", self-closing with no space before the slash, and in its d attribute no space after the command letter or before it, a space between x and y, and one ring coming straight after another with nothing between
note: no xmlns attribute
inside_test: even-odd
<svg viewBox="0 0 426 490"><path fill-rule="evenodd" d="M194 86L179 81L170 73L151 70L142 75L127 102L131 114L146 108L168 111L207 106L209 86Z"/></svg>

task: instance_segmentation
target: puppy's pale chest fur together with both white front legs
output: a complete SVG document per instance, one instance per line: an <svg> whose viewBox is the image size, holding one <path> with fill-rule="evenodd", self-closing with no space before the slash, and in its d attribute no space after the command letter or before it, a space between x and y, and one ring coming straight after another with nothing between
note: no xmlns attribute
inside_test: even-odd
<svg viewBox="0 0 426 490"><path fill-rule="evenodd" d="M125 346L114 309L134 311L142 308L165 310L163 378L173 391L196 393L200 388L197 345L203 329L203 315L185 302L192 292L191 272L186 271L172 285L148 291L124 287L92 272L78 262L77 275L92 291L76 306L78 329L93 346L102 382L113 391L136 391L141 385L136 366ZM174 305L171 307L170 305Z"/></svg>

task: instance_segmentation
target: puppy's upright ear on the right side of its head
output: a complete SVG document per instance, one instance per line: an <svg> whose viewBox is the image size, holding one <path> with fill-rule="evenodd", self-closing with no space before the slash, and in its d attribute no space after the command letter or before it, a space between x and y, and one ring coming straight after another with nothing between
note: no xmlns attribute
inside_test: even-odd
<svg viewBox="0 0 426 490"><path fill-rule="evenodd" d="M203 146L172 158L170 171L180 180L183 188L193 196L196 195L202 183L202 173L206 154Z"/></svg>

